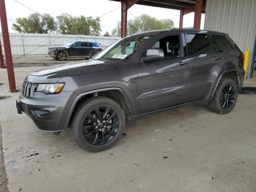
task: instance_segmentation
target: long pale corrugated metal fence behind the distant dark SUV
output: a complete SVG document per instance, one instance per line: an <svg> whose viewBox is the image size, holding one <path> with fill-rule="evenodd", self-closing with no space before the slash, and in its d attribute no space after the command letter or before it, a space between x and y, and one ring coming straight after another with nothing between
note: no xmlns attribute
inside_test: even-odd
<svg viewBox="0 0 256 192"><path fill-rule="evenodd" d="M109 46L110 44L120 39L120 37L85 36L85 35L76 36L76 35L68 35L68 34L63 36L62 34L10 33L9 35L10 35L12 56L14 57L22 56L23 54L26 54L31 51L32 52L27 54L26 56L44 56L44 55L47 55L47 48L49 46L63 45L72 40L97 41L97 42L100 42L103 48L105 48L106 46ZM1 32L0 32L0 39L2 44L2 51L4 54L4 46L3 46L3 39L2 39ZM43 47L39 48L40 46L43 46ZM38 49L34 50L36 48Z"/></svg>

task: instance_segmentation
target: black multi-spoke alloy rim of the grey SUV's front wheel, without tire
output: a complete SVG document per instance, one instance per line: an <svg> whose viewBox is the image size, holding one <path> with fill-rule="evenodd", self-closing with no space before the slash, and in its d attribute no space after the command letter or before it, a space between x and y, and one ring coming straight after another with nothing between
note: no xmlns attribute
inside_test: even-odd
<svg viewBox="0 0 256 192"><path fill-rule="evenodd" d="M118 132L119 118L110 106L99 106L86 114L82 136L89 144L100 146L110 142Z"/></svg>

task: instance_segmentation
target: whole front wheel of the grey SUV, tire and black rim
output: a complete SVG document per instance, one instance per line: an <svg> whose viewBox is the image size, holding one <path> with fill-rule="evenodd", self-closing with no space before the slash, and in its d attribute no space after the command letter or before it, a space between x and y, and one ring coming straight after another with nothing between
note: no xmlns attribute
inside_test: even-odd
<svg viewBox="0 0 256 192"><path fill-rule="evenodd" d="M81 148L100 152L118 142L124 131L124 124L124 111L120 105L114 100L99 96L81 102L72 118L70 130Z"/></svg>

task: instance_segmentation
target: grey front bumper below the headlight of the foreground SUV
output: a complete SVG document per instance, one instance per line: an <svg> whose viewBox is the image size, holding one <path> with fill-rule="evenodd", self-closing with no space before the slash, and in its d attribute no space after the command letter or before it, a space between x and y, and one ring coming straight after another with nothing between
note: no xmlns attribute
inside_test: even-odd
<svg viewBox="0 0 256 192"><path fill-rule="evenodd" d="M56 132L64 130L68 112L76 96L74 92L47 95L35 92L33 98L20 95L16 106L18 113L26 113L39 129Z"/></svg>

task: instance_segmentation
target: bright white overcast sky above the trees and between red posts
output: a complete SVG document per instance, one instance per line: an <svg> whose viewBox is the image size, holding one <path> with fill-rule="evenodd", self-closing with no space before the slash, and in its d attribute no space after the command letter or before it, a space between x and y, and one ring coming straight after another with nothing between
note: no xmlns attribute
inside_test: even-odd
<svg viewBox="0 0 256 192"><path fill-rule="evenodd" d="M42 14L48 13L54 17L62 13L67 13L72 16L102 16L115 8L121 6L120 2L113 2L109 0L17 0L18 2L26 5L32 10ZM22 6L14 0L5 0L6 3L6 14L8 20L9 32L16 32L12 30L12 23L15 22L18 17L27 17L29 14L34 13L28 8ZM132 6L127 15L127 19L134 19L134 16L140 16L141 14L148 14L152 17L161 19L172 19L174 20L174 26L179 27L180 22L180 11L171 10L165 8L156 8L151 6L134 5ZM134 16L133 16L134 15ZM111 34L113 28L118 25L118 21L121 20L121 8L118 8L105 16L100 18L100 25L103 35L106 31ZM193 27L194 25L194 12L186 14L183 18L183 27ZM204 14L201 17L201 29L204 28ZM0 27L0 31L1 27Z"/></svg>

